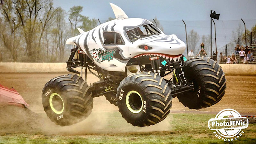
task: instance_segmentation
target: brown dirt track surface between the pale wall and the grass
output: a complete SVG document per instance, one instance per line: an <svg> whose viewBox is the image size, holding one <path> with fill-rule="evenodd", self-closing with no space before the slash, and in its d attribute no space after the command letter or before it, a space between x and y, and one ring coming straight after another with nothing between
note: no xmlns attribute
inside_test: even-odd
<svg viewBox="0 0 256 144"><path fill-rule="evenodd" d="M95 133L98 132L97 130L99 129L102 130L102 127L103 129L104 127L108 129L108 127L111 127L111 124L115 124L114 121L108 121L109 114L122 119L121 114L118 113L118 108L111 105L105 97L101 96L94 98L92 114L83 122L69 127L60 127L52 123L44 113L41 99L42 89L44 84L50 79L65 74L66 73L0 74L0 83L7 87L14 87L30 105L29 108L32 110L32 112L28 114L24 109L15 107L2 109L0 111L0 116L3 117L0 120L0 134L8 134L9 132L47 132L47 134ZM256 113L256 76L226 76L226 79L227 90L222 100L216 105L201 109L200 111L217 113L225 108L233 108L240 113ZM98 79L92 74L88 74L88 84L95 81L98 81ZM185 108L177 98L174 98L172 103L172 112L195 111ZM10 116L10 114L13 115ZM153 125L143 129L133 127L127 124L123 119L121 123L124 127L120 128L120 131L166 131L168 130L167 121L170 120L171 117L172 114L170 114L166 120L157 124L157 126ZM23 127L24 129L21 128L17 131L17 127ZM83 127L83 130L77 130L81 129L81 127ZM106 132L109 132L109 130Z"/></svg>

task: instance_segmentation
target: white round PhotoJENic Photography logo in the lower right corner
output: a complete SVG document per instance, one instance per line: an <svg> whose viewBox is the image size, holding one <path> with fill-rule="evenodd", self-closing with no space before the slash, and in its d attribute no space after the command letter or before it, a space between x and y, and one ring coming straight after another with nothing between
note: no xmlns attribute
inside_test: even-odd
<svg viewBox="0 0 256 144"><path fill-rule="evenodd" d="M236 110L227 108L221 110L215 118L208 121L208 127L218 139L234 141L243 136L242 129L248 127L248 119L242 117Z"/></svg>

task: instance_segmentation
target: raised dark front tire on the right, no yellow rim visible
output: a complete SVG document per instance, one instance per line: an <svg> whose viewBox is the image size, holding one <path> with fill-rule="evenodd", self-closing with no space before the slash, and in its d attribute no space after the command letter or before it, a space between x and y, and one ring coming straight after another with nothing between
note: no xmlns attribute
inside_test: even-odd
<svg viewBox="0 0 256 144"><path fill-rule="evenodd" d="M179 101L190 109L210 107L221 100L226 90L226 78L221 66L211 58L196 57L184 62L183 72L194 91L178 95Z"/></svg>

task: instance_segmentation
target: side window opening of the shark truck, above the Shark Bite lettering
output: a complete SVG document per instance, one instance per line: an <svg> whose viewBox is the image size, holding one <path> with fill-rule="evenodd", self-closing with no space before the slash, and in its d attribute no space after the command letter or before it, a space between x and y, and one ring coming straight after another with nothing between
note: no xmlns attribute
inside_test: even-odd
<svg viewBox="0 0 256 144"><path fill-rule="evenodd" d="M122 36L115 32L103 32L105 45L120 45L125 44Z"/></svg>

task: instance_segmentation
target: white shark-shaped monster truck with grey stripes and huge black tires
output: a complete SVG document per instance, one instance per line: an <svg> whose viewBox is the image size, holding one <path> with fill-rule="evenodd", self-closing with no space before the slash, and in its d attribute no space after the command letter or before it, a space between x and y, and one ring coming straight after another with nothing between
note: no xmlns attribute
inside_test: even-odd
<svg viewBox="0 0 256 144"><path fill-rule="evenodd" d="M148 20L128 18L121 8L110 5L115 20L87 32L78 28L81 34L66 41L76 46L66 61L67 71L75 74L55 77L43 88L44 110L55 124L84 120L93 98L102 95L128 123L139 127L164 120L175 97L190 109L221 100L226 79L216 61L187 60L182 55L186 45L177 36L165 35ZM87 70L100 80L89 86Z"/></svg>

